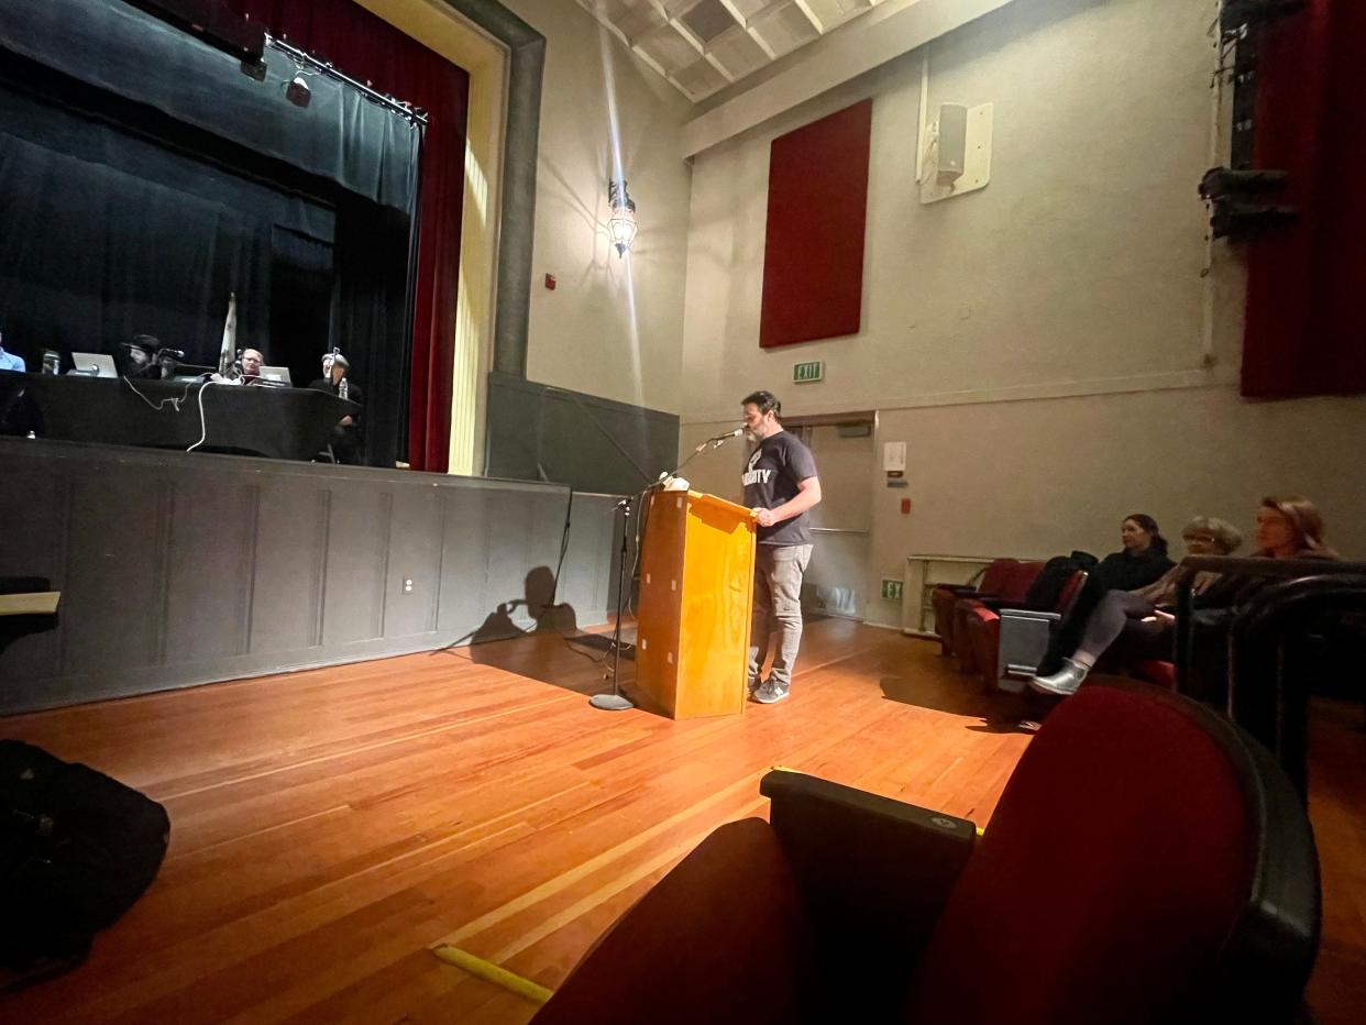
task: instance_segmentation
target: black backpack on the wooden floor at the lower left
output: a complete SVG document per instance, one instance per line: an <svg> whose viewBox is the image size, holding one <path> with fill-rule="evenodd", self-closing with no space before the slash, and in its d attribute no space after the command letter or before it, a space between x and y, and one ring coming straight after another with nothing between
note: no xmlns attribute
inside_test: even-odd
<svg viewBox="0 0 1366 1025"><path fill-rule="evenodd" d="M156 879L169 838L156 801L0 741L0 992L79 965Z"/></svg>

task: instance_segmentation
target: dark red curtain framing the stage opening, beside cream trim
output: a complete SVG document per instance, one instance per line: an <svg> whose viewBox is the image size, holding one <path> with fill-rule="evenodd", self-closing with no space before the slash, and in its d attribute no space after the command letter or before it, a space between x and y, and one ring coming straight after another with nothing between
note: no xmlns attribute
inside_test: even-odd
<svg viewBox="0 0 1366 1025"><path fill-rule="evenodd" d="M444 473L451 447L455 292L464 198L470 77L350 0L227 0L272 36L331 60L351 78L428 111L418 220L408 463Z"/></svg>

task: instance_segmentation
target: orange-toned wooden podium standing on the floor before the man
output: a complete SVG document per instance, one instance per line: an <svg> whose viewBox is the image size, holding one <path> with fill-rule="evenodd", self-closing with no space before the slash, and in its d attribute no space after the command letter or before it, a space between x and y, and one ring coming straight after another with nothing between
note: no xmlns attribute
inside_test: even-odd
<svg viewBox="0 0 1366 1025"><path fill-rule="evenodd" d="M673 719L744 711L754 518L695 491L645 506L635 682Z"/></svg>

